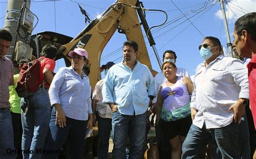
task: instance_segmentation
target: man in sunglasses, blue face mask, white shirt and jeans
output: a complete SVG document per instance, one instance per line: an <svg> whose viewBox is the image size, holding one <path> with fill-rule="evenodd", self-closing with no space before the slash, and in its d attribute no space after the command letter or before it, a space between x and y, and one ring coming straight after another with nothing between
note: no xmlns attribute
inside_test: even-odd
<svg viewBox="0 0 256 159"><path fill-rule="evenodd" d="M246 67L221 54L218 38L205 37L199 50L205 61L196 69L190 103L193 124L182 158L198 158L212 140L223 158L239 158L238 124L249 98Z"/></svg>

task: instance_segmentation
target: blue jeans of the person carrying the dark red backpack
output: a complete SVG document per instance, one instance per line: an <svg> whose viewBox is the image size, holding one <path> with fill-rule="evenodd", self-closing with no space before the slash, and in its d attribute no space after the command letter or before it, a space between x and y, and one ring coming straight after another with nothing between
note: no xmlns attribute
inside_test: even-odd
<svg viewBox="0 0 256 159"><path fill-rule="evenodd" d="M22 150L30 150L30 153L23 154L23 158L41 158L42 153L36 153L36 151L44 148L49 129L51 104L48 91L39 88L34 95L28 98L28 101L25 100L21 105ZM26 114L24 114L23 106L28 106Z"/></svg>

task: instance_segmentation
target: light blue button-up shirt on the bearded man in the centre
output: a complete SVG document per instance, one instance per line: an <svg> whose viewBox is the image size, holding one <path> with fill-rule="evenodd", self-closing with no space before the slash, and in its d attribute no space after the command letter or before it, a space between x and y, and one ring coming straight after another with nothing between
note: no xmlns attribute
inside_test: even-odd
<svg viewBox="0 0 256 159"><path fill-rule="evenodd" d="M149 95L156 96L156 81L149 68L137 61L133 70L123 62L108 71L103 85L104 103L114 103L126 115L139 115L149 106Z"/></svg>

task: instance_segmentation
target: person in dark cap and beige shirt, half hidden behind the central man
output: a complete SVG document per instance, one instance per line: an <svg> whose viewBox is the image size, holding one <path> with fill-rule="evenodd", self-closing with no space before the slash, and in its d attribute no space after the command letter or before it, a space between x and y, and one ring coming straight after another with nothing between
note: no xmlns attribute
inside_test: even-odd
<svg viewBox="0 0 256 159"><path fill-rule="evenodd" d="M100 68L104 70L105 76L107 75L107 71L114 65L114 62L107 62L103 64ZM107 158L107 154L109 153L109 136L112 129L112 111L109 105L104 104L102 102L102 87L105 83L105 79L100 80L95 85L95 88L92 93L92 113L93 113L93 125L96 124L96 107L98 110L98 128L99 128L99 142L98 142L98 158ZM97 115L97 114L96 114Z"/></svg>

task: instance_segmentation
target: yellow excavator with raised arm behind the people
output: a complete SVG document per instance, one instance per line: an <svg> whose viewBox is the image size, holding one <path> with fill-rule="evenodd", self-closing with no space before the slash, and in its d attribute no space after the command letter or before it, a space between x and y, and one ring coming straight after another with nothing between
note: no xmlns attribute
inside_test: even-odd
<svg viewBox="0 0 256 159"><path fill-rule="evenodd" d="M152 69L147 52L142 26L147 34L150 46L153 47L156 54L159 66L160 60L157 50L154 47L155 42L150 28L147 25L143 10L143 4L138 0L118 0L106 9L102 15L93 19L91 23L73 39L53 32L43 32L33 35L31 37L33 52L37 52L38 55L45 44L52 43L59 48L60 55L62 55L58 56L57 59L64 57L66 66L70 66L71 59L68 53L77 47L84 48L89 53L89 64L87 64L86 67L90 68L89 78L93 89L95 84L101 79L100 56L102 55L104 47L117 30L119 33L125 34L127 40L134 40L138 43L139 62L149 67L151 73L156 75L157 71Z"/></svg>

